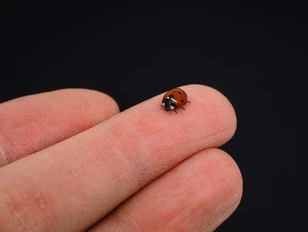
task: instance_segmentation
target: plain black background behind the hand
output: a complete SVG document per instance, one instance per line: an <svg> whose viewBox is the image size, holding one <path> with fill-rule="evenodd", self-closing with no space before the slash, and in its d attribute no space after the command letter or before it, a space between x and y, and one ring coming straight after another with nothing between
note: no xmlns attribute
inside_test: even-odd
<svg viewBox="0 0 308 232"><path fill-rule="evenodd" d="M296 139L307 64L305 8L258 3L4 3L0 101L62 88L109 94L121 111L201 83L232 102L222 146L243 198L217 231L296 230Z"/></svg>

